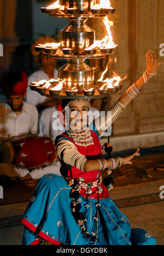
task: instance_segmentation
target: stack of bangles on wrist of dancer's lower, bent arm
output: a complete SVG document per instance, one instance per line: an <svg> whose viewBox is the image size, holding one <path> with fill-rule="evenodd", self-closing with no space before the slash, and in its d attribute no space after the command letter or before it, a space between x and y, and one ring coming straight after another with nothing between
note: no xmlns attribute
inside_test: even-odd
<svg viewBox="0 0 164 256"><path fill-rule="evenodd" d="M110 162L111 162L110 166L107 166L107 160L106 159L97 159L97 161L99 162L99 171L103 171L106 168L108 168L110 170L115 170L118 167L121 167L121 165L122 165L121 159L119 157L110 158L108 160L110 160Z"/></svg>

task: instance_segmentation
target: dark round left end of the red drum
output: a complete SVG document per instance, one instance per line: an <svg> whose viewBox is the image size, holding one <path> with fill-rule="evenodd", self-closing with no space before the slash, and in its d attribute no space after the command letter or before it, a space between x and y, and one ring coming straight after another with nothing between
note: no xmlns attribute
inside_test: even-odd
<svg viewBox="0 0 164 256"><path fill-rule="evenodd" d="M10 164L13 161L14 150L10 142L2 142L0 144L0 163Z"/></svg>

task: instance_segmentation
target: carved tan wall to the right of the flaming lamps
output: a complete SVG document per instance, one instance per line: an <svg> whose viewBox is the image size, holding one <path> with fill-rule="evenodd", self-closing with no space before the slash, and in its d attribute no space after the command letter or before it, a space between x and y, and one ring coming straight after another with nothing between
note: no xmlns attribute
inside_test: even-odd
<svg viewBox="0 0 164 256"><path fill-rule="evenodd" d="M115 15L112 34L114 42L118 43L112 59L118 62L109 64L110 71L114 69L121 77L128 74L122 82L123 89L114 94L104 105L108 109L118 100L122 92L133 84L145 71L145 53L154 50L159 62L164 57L159 55L160 44L164 43L164 1L163 0L111 0ZM102 33L102 26L95 19L90 19L89 25L97 34ZM103 60L100 69L106 66L108 60ZM96 66L97 63L92 63ZM104 69L104 68L103 68ZM124 110L121 117L113 125L113 137L110 141L115 150L135 147L154 147L164 143L164 67L148 84L145 84L142 94ZM97 76L100 77L100 70ZM101 71L102 72L102 71ZM148 135L149 133L149 135ZM103 142L102 142L103 143Z"/></svg>

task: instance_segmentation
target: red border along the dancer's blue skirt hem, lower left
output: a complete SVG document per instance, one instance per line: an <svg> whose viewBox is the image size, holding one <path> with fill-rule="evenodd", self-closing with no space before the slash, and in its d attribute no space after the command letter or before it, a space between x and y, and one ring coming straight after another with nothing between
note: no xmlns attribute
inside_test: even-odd
<svg viewBox="0 0 164 256"><path fill-rule="evenodd" d="M23 219L21 220L21 223L24 224L25 226L27 226L27 228L30 229L30 230L32 230L33 232L35 232L35 231L37 230L37 228L36 228L35 226L33 226L30 222L28 222L28 220L26 220L25 218L23 218ZM52 245L65 245L64 243L61 243L61 242L59 242L59 241L56 241L56 240L52 239L51 237L49 237L48 235L45 235L42 231L40 231L40 232L38 233L38 236L39 236L39 237L42 237L44 240L46 240L46 241L52 243ZM35 241L36 241L36 240L34 240L32 243L35 243ZM36 242L38 242L38 241L36 241ZM40 241L39 241L39 242L40 242ZM39 243L39 242L38 242L38 243ZM37 244L38 244L38 243L37 243ZM36 244L36 245L37 245L37 244ZM32 245L32 244L31 244L31 245Z"/></svg>

